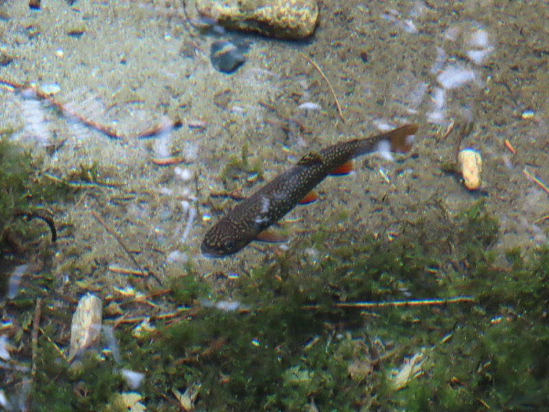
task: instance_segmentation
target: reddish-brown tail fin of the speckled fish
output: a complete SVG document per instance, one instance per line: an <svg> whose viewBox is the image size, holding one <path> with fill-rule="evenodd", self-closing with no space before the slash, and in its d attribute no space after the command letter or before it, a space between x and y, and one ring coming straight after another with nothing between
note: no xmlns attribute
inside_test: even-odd
<svg viewBox="0 0 549 412"><path fill-rule="evenodd" d="M417 124L407 124L382 135L364 139L364 144L360 146L354 157L377 151L382 157L393 160L391 153L410 152L417 129Z"/></svg>

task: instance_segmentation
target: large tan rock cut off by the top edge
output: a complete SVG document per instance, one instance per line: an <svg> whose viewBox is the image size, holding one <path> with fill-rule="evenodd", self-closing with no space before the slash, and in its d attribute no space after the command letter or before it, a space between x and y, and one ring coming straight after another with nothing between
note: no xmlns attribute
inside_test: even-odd
<svg viewBox="0 0 549 412"><path fill-rule="evenodd" d="M306 38L318 20L316 0L198 0L196 8L229 29L277 38Z"/></svg>

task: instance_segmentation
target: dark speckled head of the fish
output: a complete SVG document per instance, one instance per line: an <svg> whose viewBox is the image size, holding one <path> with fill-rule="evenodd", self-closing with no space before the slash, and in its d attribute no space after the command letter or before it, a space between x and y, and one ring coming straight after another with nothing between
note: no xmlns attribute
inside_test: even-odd
<svg viewBox="0 0 549 412"><path fill-rule="evenodd" d="M246 232L238 230L238 227L231 222L220 220L217 225L207 231L200 245L200 251L207 258L224 258L237 253L252 240L253 237L246 236Z"/></svg>

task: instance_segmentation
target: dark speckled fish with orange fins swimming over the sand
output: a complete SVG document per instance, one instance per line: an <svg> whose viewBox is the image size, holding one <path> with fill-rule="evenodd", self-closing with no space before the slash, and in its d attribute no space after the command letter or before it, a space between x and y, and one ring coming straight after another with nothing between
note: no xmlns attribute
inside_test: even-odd
<svg viewBox="0 0 549 412"><path fill-rule="evenodd" d="M285 241L266 229L296 205L315 201L317 195L313 189L318 183L329 175L349 174L356 157L379 152L392 159L391 152L408 153L417 129L417 124L407 124L381 135L308 152L296 165L266 183L215 223L202 240L202 255L223 258L241 251L254 240Z"/></svg>

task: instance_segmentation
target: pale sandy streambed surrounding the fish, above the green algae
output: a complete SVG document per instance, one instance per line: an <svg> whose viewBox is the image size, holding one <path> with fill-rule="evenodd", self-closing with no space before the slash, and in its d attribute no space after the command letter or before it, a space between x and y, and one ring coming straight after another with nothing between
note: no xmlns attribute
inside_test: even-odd
<svg viewBox="0 0 549 412"><path fill-rule="evenodd" d="M495 262L506 266L510 248L528 252L547 244L548 220L539 219L549 213L549 194L530 177L549 182L547 5L325 1L319 7L314 36L294 42L201 34L182 5L163 1L43 1L41 10L2 2L0 130L30 150L40 179L74 181L86 170L93 183L108 183L44 205L61 230L48 263L35 262L36 272L46 266L69 295L92 290L105 298L131 283L117 267L152 271L167 285L191 265L212 285L202 299L240 299L240 289L227 279L216 283L216 274L246 277L285 253L320 265L326 252L311 240L319 229L347 233L349 243L364 233L385 239L399 236L406 222L456 216L481 199L500 222ZM209 48L218 40L248 45L235 73L211 65ZM325 80L300 54L325 73L344 122ZM53 93L65 112L10 84ZM200 255L205 231L235 205L222 195L247 196L261 176L270 180L310 148L411 122L420 129L410 157L359 159L355 173L327 179L320 201L290 214L290 242L253 244L225 260ZM119 139L93 125L115 130ZM444 171L459 147L482 155L476 192ZM158 164L172 155L184 161ZM79 293L73 282L83 278ZM144 284L157 287L154 279Z"/></svg>

